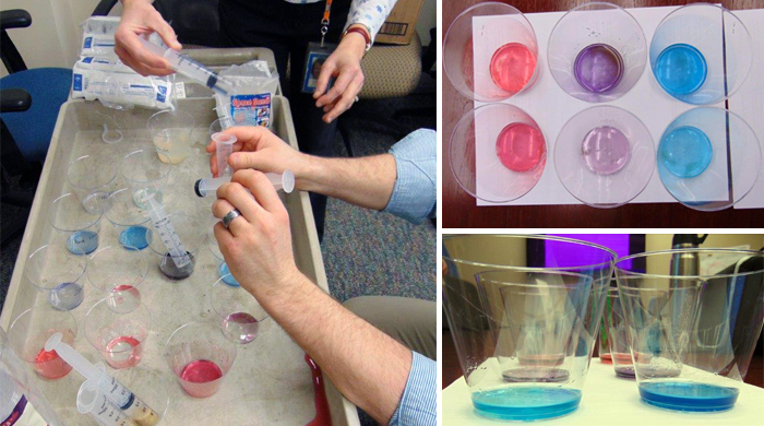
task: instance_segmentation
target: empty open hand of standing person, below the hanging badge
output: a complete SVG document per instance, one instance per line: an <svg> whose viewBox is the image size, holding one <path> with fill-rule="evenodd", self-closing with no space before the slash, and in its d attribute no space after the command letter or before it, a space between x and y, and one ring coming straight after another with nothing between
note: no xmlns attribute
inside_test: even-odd
<svg viewBox="0 0 764 426"><path fill-rule="evenodd" d="M332 122L356 102L356 96L363 86L361 59L365 51L366 38L358 33L348 33L321 66L313 98L317 99L315 106L323 108L325 113L324 122ZM336 80L327 92L326 87L332 76L336 76Z"/></svg>

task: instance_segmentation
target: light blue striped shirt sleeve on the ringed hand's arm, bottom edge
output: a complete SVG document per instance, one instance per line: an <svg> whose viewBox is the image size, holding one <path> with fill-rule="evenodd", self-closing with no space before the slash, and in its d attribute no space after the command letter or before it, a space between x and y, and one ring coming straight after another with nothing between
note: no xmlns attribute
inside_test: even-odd
<svg viewBox="0 0 764 426"><path fill-rule="evenodd" d="M411 370L390 426L434 426L437 423L438 376L435 362L411 352Z"/></svg>

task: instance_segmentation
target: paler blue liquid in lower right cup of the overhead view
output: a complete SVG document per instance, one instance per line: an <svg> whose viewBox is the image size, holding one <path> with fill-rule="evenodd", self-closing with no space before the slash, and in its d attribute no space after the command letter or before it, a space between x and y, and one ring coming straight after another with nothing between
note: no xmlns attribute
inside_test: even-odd
<svg viewBox="0 0 764 426"><path fill-rule="evenodd" d="M699 128L682 126L665 134L658 146L658 161L680 178L699 176L711 164L714 149Z"/></svg>

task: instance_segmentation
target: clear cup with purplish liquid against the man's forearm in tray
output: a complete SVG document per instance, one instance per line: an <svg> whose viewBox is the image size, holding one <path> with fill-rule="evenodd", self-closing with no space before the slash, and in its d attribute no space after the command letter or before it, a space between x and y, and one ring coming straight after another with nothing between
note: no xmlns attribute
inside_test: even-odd
<svg viewBox="0 0 764 426"><path fill-rule="evenodd" d="M230 286L224 279L217 280L210 291L210 301L220 320L220 330L232 342L251 343L258 338L260 323L268 315L254 296L239 286Z"/></svg>

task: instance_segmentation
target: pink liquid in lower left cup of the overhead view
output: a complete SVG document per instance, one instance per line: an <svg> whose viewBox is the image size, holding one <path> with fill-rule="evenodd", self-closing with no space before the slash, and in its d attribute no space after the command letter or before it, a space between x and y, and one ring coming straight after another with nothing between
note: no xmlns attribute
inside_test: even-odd
<svg viewBox="0 0 764 426"><path fill-rule="evenodd" d="M532 170L546 155L544 134L532 126L513 122L503 128L497 138L497 156L512 171Z"/></svg>

